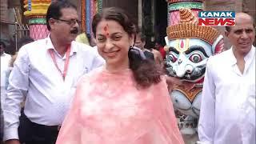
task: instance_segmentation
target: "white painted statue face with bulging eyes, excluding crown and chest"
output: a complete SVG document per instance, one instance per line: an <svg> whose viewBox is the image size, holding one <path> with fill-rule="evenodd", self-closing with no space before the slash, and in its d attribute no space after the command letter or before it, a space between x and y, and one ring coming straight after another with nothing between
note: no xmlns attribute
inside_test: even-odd
<svg viewBox="0 0 256 144"><path fill-rule="evenodd" d="M172 77L187 82L201 82L208 58L215 54L215 47L222 39L218 36L213 45L199 38L168 40L166 37L166 70Z"/></svg>

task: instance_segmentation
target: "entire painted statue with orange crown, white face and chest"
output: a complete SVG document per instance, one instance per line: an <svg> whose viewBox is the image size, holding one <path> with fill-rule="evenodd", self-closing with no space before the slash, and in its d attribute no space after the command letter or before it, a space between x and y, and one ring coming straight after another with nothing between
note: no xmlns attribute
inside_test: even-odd
<svg viewBox="0 0 256 144"><path fill-rule="evenodd" d="M210 26L198 26L190 9L179 10L181 21L166 29L166 71L171 77L193 82L194 87L174 86L170 98L182 114L198 118L202 83L208 58L222 52L223 36Z"/></svg>

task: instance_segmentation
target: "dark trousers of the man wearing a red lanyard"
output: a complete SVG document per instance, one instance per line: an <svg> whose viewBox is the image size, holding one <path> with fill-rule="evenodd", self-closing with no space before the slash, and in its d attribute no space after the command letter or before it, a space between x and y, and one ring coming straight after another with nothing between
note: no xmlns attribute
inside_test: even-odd
<svg viewBox="0 0 256 144"><path fill-rule="evenodd" d="M31 122L23 113L20 117L18 137L26 144L55 144L58 137L58 126L44 126Z"/></svg>

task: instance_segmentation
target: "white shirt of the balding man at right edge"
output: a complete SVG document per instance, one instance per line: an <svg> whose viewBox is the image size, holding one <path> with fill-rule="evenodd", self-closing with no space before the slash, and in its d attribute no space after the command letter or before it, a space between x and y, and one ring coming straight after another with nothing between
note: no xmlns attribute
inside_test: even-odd
<svg viewBox="0 0 256 144"><path fill-rule="evenodd" d="M246 64L242 74L236 64L237 60L232 48L209 58L198 123L200 142L206 144L246 143L242 142L246 134L244 131L246 125L243 124L246 118L242 114L245 113L243 106L250 95L254 97L255 102L254 46L244 59ZM253 123L255 125L255 121ZM254 143L250 142L250 144Z"/></svg>

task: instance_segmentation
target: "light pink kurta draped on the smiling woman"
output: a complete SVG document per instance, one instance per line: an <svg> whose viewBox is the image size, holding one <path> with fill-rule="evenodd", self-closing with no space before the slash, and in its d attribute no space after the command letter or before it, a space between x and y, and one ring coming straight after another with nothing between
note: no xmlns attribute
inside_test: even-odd
<svg viewBox="0 0 256 144"><path fill-rule="evenodd" d="M137 87L131 70L85 75L57 144L183 144L165 80Z"/></svg>

